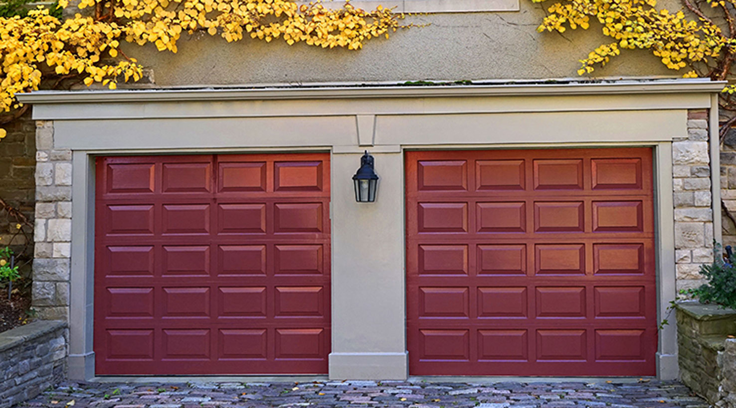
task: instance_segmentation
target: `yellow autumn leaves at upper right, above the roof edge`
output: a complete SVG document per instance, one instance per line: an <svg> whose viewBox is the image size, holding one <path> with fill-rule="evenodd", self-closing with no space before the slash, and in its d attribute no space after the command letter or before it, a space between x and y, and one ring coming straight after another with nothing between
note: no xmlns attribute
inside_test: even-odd
<svg viewBox="0 0 736 408"><path fill-rule="evenodd" d="M736 4L735 0L728 2ZM566 28L578 26L587 29L590 18L601 23L603 34L615 42L601 45L581 59L578 75L592 73L596 66L606 65L627 48L651 50L671 70L692 68L693 64L707 62L723 51L736 51L736 44L710 21L688 20L682 11L657 10L656 5L656 0L563 0L548 7L550 14L537 31L565 32ZM696 76L694 69L683 75L684 78Z"/></svg>

